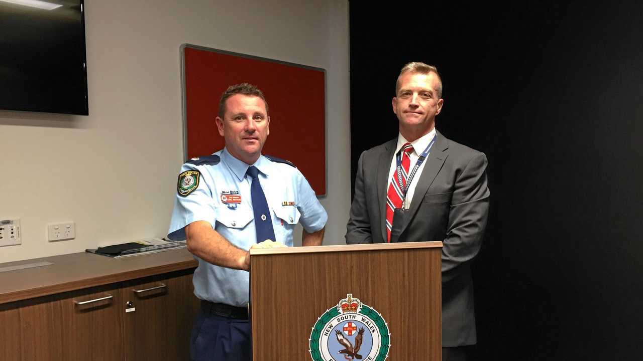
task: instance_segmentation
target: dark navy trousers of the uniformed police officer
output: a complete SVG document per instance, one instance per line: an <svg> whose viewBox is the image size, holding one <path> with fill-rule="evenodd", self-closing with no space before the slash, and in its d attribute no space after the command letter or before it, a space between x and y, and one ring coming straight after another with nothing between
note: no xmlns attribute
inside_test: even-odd
<svg viewBox="0 0 643 361"><path fill-rule="evenodd" d="M216 315L201 307L190 337L192 361L251 361L248 320Z"/></svg>

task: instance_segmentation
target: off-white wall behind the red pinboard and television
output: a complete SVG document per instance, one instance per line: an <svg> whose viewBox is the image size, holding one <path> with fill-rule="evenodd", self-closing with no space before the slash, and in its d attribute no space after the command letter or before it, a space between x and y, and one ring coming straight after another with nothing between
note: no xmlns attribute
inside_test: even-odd
<svg viewBox="0 0 643 361"><path fill-rule="evenodd" d="M0 262L163 236L182 163L179 46L327 70L325 244L350 207L348 4L314 1L86 0L89 116L0 111L0 218L22 245ZM270 138L268 138L270 141ZM48 222L76 222L48 242ZM300 242L300 240L299 240Z"/></svg>

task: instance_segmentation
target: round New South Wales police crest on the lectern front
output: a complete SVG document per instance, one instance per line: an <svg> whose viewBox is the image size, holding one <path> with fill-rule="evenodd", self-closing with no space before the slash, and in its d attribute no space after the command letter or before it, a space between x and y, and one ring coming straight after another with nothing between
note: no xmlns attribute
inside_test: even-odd
<svg viewBox="0 0 643 361"><path fill-rule="evenodd" d="M313 361L384 361L390 339L382 315L347 294L317 319L309 351Z"/></svg>

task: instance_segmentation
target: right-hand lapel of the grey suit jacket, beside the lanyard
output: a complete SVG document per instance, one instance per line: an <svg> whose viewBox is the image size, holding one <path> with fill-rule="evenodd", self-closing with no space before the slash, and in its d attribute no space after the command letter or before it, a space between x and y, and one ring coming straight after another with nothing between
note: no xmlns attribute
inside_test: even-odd
<svg viewBox="0 0 643 361"><path fill-rule="evenodd" d="M408 220L413 218L417 209L419 209L420 204L426 191L428 191L431 183L435 177L437 177L440 169L442 169L442 164L446 161L446 158L449 156L449 141L442 134L436 131L437 139L435 139L435 144L431 149L431 154L426 158L424 169L422 169L422 174L420 179L415 186L413 191L413 199L411 200L411 206L407 212L410 212L409 216L406 217L407 223L402 225L401 233L404 232L404 229L408 226Z"/></svg>

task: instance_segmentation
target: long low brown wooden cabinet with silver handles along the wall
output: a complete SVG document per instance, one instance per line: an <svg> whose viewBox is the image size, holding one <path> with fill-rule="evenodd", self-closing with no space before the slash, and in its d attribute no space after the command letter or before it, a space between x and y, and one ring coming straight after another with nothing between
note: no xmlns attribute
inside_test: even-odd
<svg viewBox="0 0 643 361"><path fill-rule="evenodd" d="M154 274L143 263L134 266L135 272L112 274L117 282L91 286L84 279L84 288L30 298L3 294L3 286L10 286L1 283L7 276L0 273L0 360L188 360L190 330L199 309L192 287L194 266L188 262L179 270ZM152 275L136 277L147 274ZM39 294L35 289L20 292ZM3 296L23 299L3 303Z"/></svg>

